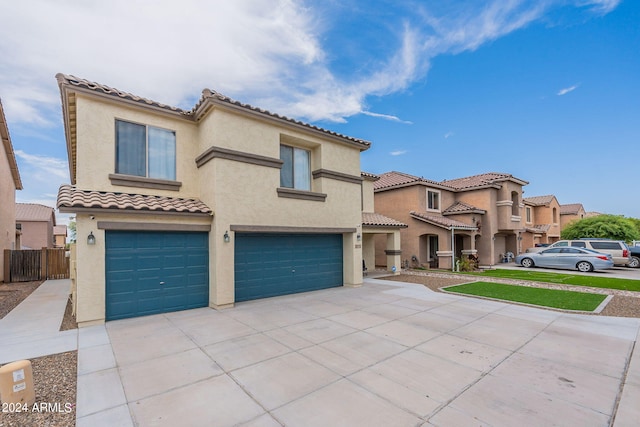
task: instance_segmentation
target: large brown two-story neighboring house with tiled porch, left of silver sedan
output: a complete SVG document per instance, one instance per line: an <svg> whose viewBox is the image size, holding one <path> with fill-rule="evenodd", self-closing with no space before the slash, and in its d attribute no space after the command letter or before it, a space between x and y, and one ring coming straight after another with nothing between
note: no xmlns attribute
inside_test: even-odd
<svg viewBox="0 0 640 427"><path fill-rule="evenodd" d="M409 266L450 269L469 256L494 265L518 252L526 184L502 173L436 182L387 172L374 182L376 211L408 225L401 238Z"/></svg>

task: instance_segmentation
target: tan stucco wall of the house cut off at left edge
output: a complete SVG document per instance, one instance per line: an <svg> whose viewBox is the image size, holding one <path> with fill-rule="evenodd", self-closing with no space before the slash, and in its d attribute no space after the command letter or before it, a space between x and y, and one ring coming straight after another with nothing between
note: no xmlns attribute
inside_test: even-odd
<svg viewBox="0 0 640 427"><path fill-rule="evenodd" d="M4 250L19 249L16 241L16 187L9 159L0 148L0 281L4 278Z"/></svg>

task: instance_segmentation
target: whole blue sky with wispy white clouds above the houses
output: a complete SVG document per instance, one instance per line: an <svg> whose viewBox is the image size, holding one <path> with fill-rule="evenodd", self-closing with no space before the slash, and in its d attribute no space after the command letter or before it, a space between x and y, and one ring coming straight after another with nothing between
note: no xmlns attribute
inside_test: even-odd
<svg viewBox="0 0 640 427"><path fill-rule="evenodd" d="M2 2L0 58L19 202L69 181L63 72L367 139L368 172L510 173L525 197L640 218L638 1Z"/></svg>

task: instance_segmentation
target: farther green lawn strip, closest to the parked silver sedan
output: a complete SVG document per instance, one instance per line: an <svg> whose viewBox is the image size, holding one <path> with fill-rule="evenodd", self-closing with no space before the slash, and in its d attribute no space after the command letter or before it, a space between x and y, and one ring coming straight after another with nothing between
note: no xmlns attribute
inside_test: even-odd
<svg viewBox="0 0 640 427"><path fill-rule="evenodd" d="M535 282L562 283L563 285L591 286L593 288L622 289L640 292L640 280L614 279L600 276L583 276L574 274L547 273L539 270L485 270L481 273L464 273L485 277L504 279L532 280Z"/></svg>

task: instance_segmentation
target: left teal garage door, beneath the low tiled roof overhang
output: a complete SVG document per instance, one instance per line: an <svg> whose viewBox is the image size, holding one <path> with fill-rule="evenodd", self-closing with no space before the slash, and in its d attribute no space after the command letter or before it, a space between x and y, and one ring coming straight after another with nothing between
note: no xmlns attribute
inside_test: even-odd
<svg viewBox="0 0 640 427"><path fill-rule="evenodd" d="M206 307L208 266L208 233L107 231L107 320Z"/></svg>

